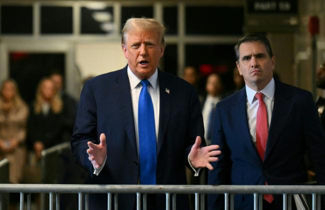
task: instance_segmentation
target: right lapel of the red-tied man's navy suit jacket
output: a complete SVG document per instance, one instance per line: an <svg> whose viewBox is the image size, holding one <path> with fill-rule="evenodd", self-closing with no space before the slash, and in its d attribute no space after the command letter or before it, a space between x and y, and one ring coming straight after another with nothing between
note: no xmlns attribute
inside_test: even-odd
<svg viewBox="0 0 325 210"><path fill-rule="evenodd" d="M285 91L286 88L283 88L282 85L281 82L275 80L272 118L268 130L264 159L266 159L267 155L276 144L292 108L292 103L290 102L291 94Z"/></svg>

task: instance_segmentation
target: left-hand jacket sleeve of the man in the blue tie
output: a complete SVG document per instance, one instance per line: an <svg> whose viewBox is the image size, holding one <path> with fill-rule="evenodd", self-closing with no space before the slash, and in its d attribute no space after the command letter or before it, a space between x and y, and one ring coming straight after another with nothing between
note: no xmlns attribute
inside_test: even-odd
<svg viewBox="0 0 325 210"><path fill-rule="evenodd" d="M93 175L93 167L88 159L86 150L88 148L88 141L98 143L96 127L96 102L91 86L89 82L86 82L80 95L80 102L71 137L71 149L77 163L84 167L91 176Z"/></svg>

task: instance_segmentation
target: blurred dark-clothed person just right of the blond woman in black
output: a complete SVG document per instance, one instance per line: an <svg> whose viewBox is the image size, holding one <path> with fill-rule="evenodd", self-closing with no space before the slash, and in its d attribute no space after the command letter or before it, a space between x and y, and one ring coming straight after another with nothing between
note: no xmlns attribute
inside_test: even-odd
<svg viewBox="0 0 325 210"><path fill-rule="evenodd" d="M74 120L77 109L76 100L64 91L63 88L63 75L59 71L53 71L50 74L50 79L53 80L57 94L61 97L63 107L62 107L62 115L63 115L63 132L62 132L62 140L70 141L70 137L72 135L72 130L74 126Z"/></svg>

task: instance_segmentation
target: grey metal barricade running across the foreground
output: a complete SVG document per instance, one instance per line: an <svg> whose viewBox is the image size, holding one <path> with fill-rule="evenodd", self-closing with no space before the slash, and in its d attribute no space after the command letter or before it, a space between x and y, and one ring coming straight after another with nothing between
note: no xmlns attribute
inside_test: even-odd
<svg viewBox="0 0 325 210"><path fill-rule="evenodd" d="M47 193L49 206L47 209L53 210L54 199L59 202L59 193L78 194L78 209L88 209L89 193L106 193L107 210L118 209L116 200L118 194L134 193L136 194L136 209L141 209L141 194L143 194L143 203L146 203L146 194L164 193L166 210L174 210L176 203L170 197L177 194L195 194L195 210L204 209L204 194L224 194L225 209L233 209L234 194L253 194L254 209L262 209L263 194L282 194L283 210L291 209L291 201L288 199L292 194L311 194L312 210L320 209L320 195L325 193L325 186L313 185L86 185L86 184L0 184L0 193L19 192L20 210L23 210L24 194L27 195L27 209L30 209L30 193ZM84 195L84 196L83 196ZM112 195L114 196L112 198ZM83 208L84 197L84 208ZM115 205L111 206L112 199ZM229 203L229 204L228 204ZM171 208L170 208L171 204ZM146 209L145 204L143 209ZM56 210L59 206L56 205ZM1 209L0 209L1 210Z"/></svg>

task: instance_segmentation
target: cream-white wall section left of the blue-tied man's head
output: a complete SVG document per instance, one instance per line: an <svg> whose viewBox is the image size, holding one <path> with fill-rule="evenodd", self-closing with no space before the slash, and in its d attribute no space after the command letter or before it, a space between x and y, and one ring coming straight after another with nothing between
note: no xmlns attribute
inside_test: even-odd
<svg viewBox="0 0 325 210"><path fill-rule="evenodd" d="M77 43L75 60L82 78L117 70L127 63L120 41Z"/></svg>

